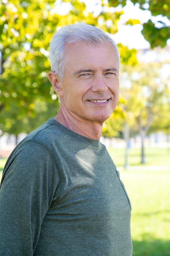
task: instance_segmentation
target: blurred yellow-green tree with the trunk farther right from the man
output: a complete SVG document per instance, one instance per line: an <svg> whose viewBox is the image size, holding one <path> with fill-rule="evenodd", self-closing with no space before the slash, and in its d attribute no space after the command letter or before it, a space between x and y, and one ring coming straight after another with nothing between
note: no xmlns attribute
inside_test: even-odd
<svg viewBox="0 0 170 256"><path fill-rule="evenodd" d="M170 90L161 78L160 69L161 63L139 63L133 69L128 65L122 66L121 91L127 100L124 106L127 112L125 122L133 130L135 124L138 127L142 164L145 163L145 136L155 120L163 121L162 111L168 107Z"/></svg>

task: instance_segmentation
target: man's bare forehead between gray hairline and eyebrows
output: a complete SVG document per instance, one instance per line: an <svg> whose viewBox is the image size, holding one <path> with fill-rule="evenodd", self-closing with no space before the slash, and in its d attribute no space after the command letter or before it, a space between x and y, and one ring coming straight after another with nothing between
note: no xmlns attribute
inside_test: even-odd
<svg viewBox="0 0 170 256"><path fill-rule="evenodd" d="M119 61L115 48L111 43L91 46L85 43L67 44L65 49L67 65L71 66L114 66L119 69Z"/></svg>

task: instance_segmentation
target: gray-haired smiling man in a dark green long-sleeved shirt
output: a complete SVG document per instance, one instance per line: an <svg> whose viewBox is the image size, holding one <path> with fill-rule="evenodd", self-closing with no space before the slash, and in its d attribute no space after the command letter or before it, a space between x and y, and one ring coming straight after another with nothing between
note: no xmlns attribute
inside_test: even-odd
<svg viewBox="0 0 170 256"><path fill-rule="evenodd" d="M0 256L131 256L130 201L99 141L119 100L119 54L84 23L55 33L60 109L13 150L0 190Z"/></svg>

